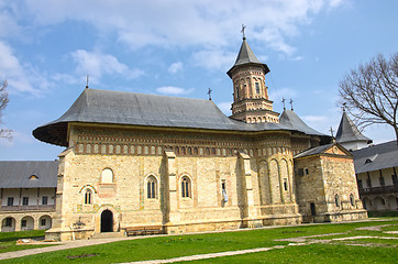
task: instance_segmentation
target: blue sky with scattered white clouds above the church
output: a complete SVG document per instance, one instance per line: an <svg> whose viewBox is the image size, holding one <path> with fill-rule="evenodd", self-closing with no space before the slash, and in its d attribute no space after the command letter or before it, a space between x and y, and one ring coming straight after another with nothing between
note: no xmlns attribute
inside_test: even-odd
<svg viewBox="0 0 398 264"><path fill-rule="evenodd" d="M0 80L10 102L0 161L56 160L32 131L59 118L86 87L212 100L230 116L233 66L246 41L266 63L269 99L311 128L338 130L339 81L398 47L396 0L0 0ZM290 105L287 105L290 109ZM372 125L374 143L395 140Z"/></svg>

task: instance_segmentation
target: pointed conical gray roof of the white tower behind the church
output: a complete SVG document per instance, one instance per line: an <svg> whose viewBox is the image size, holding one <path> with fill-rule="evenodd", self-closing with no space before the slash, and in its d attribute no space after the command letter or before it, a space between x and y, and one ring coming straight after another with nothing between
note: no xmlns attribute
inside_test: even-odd
<svg viewBox="0 0 398 264"><path fill-rule="evenodd" d="M367 141L367 143L369 144L373 142L369 138L366 138L360 132L360 130L356 128L356 125L350 119L345 111L343 111L343 116L341 117L335 140L339 143Z"/></svg>

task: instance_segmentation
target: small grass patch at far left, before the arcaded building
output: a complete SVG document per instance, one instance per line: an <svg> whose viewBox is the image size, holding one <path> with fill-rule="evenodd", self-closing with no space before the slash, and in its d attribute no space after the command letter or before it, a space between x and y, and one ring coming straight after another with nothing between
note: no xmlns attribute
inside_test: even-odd
<svg viewBox="0 0 398 264"><path fill-rule="evenodd" d="M0 232L0 253L48 246L48 245L33 245L33 244L16 245L16 240L19 239L40 239L40 238L44 238L44 230Z"/></svg>

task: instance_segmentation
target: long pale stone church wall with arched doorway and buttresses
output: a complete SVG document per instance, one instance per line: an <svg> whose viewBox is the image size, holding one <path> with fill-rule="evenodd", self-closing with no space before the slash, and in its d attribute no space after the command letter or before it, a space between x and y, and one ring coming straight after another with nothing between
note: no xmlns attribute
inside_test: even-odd
<svg viewBox="0 0 398 264"><path fill-rule="evenodd" d="M56 219L48 238L101 232L103 211L111 212L112 231L119 232L137 226L177 233L300 222L288 132L70 131L70 148L59 155ZM150 178L156 183L155 198L148 198ZM188 197L183 197L185 178Z"/></svg>

